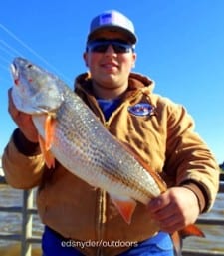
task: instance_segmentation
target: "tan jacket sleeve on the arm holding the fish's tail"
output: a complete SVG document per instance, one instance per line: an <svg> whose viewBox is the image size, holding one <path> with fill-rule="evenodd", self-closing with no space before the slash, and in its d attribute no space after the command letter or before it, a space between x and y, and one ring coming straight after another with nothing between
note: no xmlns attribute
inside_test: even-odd
<svg viewBox="0 0 224 256"><path fill-rule="evenodd" d="M185 108L172 103L167 107L165 171L175 175L176 185L196 193L201 212L211 209L219 188L218 163Z"/></svg>

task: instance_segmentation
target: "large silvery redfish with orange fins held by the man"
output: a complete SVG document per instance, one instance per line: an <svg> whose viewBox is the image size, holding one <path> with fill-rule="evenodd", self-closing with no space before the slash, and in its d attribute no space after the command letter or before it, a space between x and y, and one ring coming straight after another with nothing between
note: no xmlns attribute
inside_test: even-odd
<svg viewBox="0 0 224 256"><path fill-rule="evenodd" d="M127 223L136 201L147 205L166 190L160 176L124 148L62 80L22 58L13 61L11 70L13 102L32 115L49 167L56 158L90 185L106 190Z"/></svg>

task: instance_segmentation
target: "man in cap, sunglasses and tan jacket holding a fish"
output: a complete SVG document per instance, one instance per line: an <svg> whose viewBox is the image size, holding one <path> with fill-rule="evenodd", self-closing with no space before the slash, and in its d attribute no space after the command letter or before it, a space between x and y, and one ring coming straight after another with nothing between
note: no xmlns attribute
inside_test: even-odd
<svg viewBox="0 0 224 256"><path fill-rule="evenodd" d="M214 203L218 165L186 110L153 94L150 79L131 73L136 42L132 22L121 13L94 18L84 53L90 73L75 83L76 93L105 127L168 185L147 207L137 204L130 225L105 191L93 189L60 163L46 167L31 117L15 108L9 92L9 113L18 128L4 151L3 168L12 186L39 186L44 256L171 256L169 234L194 223Z"/></svg>

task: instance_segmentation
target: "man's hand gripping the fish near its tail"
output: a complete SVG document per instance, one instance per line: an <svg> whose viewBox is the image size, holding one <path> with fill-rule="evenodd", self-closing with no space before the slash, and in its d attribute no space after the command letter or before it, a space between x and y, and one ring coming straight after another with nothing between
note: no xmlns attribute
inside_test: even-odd
<svg viewBox="0 0 224 256"><path fill-rule="evenodd" d="M199 215L197 197L185 187L169 188L149 202L148 210L160 229L170 234L193 224Z"/></svg>

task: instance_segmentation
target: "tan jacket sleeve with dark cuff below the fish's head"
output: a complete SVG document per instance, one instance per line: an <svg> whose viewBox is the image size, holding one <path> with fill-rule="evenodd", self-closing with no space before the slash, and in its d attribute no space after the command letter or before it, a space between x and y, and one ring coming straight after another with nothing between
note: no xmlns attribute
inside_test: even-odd
<svg viewBox="0 0 224 256"><path fill-rule="evenodd" d="M39 149L36 148L34 153L31 142L20 133L19 129L16 129L6 145L2 156L2 167L9 185L14 188L30 189L40 183L45 164ZM33 144L33 147L38 145Z"/></svg>

